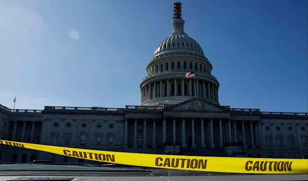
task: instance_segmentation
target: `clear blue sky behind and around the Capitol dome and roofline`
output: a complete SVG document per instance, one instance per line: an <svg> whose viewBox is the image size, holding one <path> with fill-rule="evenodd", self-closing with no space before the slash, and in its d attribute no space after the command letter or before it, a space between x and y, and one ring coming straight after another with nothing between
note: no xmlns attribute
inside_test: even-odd
<svg viewBox="0 0 308 181"><path fill-rule="evenodd" d="M0 104L140 105L140 83L172 30L174 1L0 1ZM307 1L182 1L233 108L307 112Z"/></svg>

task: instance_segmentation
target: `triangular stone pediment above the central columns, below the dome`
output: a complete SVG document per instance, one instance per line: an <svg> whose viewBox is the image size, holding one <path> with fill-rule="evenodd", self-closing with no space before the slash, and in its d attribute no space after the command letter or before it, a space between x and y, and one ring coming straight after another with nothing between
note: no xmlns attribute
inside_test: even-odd
<svg viewBox="0 0 308 181"><path fill-rule="evenodd" d="M214 103L210 103L207 100L201 98L192 98L190 100L186 100L183 103L168 107L166 109L170 111L213 111L213 112L225 112L229 111L228 109L216 105Z"/></svg>

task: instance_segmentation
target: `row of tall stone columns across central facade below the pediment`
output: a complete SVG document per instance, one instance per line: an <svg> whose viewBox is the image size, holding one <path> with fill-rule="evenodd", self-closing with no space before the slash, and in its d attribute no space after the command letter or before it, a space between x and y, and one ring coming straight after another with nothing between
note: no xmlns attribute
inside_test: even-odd
<svg viewBox="0 0 308 181"><path fill-rule="evenodd" d="M214 144L214 130L213 130L213 119L214 118L210 118L209 122L208 122L208 133L209 133L209 137L210 137L210 147L211 148L215 148L215 144ZM133 137L133 148L137 148L137 120L138 118L134 119L134 137ZM238 121L234 121L234 140L235 142L238 142L237 140L237 129L236 129L236 122ZM243 147L244 149L247 149L247 145L246 145L246 135L245 135L245 121L242 120L242 135L243 135ZM228 135L228 142L232 143L232 131L231 131L231 120L228 119L227 123L226 123L226 135ZM254 142L254 129L253 129L253 122L250 121L250 129L251 129L251 143L252 143L252 148L255 149L255 142ZM147 126L147 118L144 119L144 131L143 131L143 148L147 148L147 143L146 143L146 126ZM166 118L163 118L163 130L162 130L162 143L166 142ZM261 131L261 125L259 124L259 132ZM173 118L173 122L172 122L172 141L176 142L176 118ZM156 119L153 119L153 140L152 140L152 148L156 148ZM260 136L260 135L259 135ZM195 118L191 118L191 137L192 137L192 144L191 147L192 148L196 148L196 143L195 143ZM125 119L125 128L124 128L124 147L127 148L127 138L128 138L128 120ZM222 130L222 119L219 118L219 140L220 140L220 145L219 147L222 148L223 147L223 130ZM262 145L262 143L260 143L260 145ZM185 137L185 118L182 118L182 147L186 148L186 137ZM205 140L204 140L204 118L201 118L201 147L205 148Z"/></svg>

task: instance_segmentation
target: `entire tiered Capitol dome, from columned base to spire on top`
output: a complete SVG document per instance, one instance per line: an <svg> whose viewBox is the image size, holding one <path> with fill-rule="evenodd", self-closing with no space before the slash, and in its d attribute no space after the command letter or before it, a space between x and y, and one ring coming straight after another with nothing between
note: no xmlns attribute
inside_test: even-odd
<svg viewBox="0 0 308 181"><path fill-rule="evenodd" d="M141 106L168 106L199 97L219 105L219 82L201 46L184 32L181 3L174 3L173 31L156 48L140 85ZM195 77L186 78L187 72Z"/></svg>

